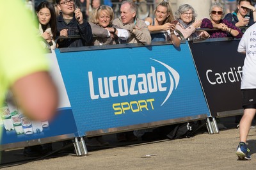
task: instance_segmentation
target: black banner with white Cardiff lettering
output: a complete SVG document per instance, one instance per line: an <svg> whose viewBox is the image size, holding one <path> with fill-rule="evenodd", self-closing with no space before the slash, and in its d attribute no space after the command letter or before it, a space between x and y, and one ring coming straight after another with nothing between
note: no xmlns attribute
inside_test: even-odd
<svg viewBox="0 0 256 170"><path fill-rule="evenodd" d="M240 86L245 55L237 52L239 41L189 42L212 116L243 109Z"/></svg>

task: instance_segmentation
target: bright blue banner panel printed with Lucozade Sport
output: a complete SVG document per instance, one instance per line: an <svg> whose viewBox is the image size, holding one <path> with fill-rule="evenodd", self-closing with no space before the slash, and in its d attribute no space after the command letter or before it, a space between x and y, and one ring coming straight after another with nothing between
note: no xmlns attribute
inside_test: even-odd
<svg viewBox="0 0 256 170"><path fill-rule="evenodd" d="M79 135L205 114L188 43L60 52Z"/></svg>

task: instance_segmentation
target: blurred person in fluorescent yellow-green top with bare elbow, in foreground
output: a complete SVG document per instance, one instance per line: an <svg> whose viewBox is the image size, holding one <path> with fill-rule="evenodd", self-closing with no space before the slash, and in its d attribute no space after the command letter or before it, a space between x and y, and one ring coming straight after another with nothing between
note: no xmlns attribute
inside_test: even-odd
<svg viewBox="0 0 256 170"><path fill-rule="evenodd" d="M52 120L58 93L31 12L22 1L4 1L0 18L0 105L10 89L31 120Z"/></svg>

